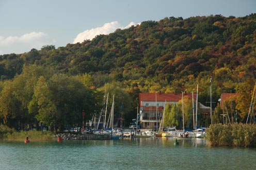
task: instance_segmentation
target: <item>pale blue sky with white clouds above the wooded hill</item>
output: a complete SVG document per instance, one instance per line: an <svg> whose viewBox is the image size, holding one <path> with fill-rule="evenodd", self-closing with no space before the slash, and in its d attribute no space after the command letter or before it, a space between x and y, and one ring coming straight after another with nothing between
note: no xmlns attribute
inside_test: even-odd
<svg viewBox="0 0 256 170"><path fill-rule="evenodd" d="M0 55L66 46L165 17L245 16L254 0L0 0Z"/></svg>

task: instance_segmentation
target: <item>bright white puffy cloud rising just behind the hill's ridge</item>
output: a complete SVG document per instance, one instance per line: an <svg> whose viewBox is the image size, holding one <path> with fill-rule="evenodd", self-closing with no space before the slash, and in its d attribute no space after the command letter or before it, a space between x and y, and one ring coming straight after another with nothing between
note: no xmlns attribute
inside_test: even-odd
<svg viewBox="0 0 256 170"><path fill-rule="evenodd" d="M116 29L129 28L132 25L136 25L134 22L131 22L127 26L121 26L117 21L105 23L102 27L92 28L85 30L84 32L78 33L73 43L83 42L84 40L92 40L97 35L108 35L111 32L114 32Z"/></svg>

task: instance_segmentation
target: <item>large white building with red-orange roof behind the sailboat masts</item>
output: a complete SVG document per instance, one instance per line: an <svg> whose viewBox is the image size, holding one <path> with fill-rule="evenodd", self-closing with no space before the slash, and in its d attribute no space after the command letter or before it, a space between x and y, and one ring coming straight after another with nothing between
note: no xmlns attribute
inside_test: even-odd
<svg viewBox="0 0 256 170"><path fill-rule="evenodd" d="M183 93L183 96L192 94ZM194 94L194 100L197 95ZM176 104L182 99L182 93L139 93L139 108L143 110L140 116L141 128L154 129L159 126L166 104ZM157 114L158 113L158 114Z"/></svg>

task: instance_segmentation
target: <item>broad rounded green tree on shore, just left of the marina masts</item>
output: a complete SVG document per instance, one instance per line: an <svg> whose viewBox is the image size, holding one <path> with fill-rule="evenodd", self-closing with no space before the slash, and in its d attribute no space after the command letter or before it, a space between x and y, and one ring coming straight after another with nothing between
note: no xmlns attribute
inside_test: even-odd
<svg viewBox="0 0 256 170"><path fill-rule="evenodd" d="M56 131L56 127L61 130L63 125L80 126L83 110L86 112L86 120L90 120L98 111L95 96L97 95L86 89L77 78L55 74L48 81L43 77L39 79L35 88L37 104L31 105L39 108L39 114L36 115L38 121Z"/></svg>

